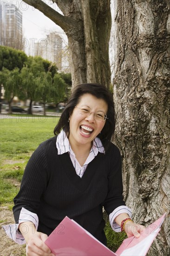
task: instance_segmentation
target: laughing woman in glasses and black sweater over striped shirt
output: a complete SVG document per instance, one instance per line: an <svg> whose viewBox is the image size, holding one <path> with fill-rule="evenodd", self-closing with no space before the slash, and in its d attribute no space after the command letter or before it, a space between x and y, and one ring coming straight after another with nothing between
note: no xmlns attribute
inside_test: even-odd
<svg viewBox="0 0 170 256"><path fill-rule="evenodd" d="M106 245L103 206L115 231L140 236L122 196L121 156L112 144L114 105L98 84L78 85L54 129L27 163L13 214L26 255L52 256L44 241L65 216ZM21 234L20 234L21 232Z"/></svg>

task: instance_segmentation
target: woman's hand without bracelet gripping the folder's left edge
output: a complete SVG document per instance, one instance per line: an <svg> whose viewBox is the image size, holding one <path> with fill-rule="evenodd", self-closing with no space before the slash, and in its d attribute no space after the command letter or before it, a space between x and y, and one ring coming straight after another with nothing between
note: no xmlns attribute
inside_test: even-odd
<svg viewBox="0 0 170 256"><path fill-rule="evenodd" d="M26 241L26 256L54 256L49 247L44 243L47 235L35 231Z"/></svg>

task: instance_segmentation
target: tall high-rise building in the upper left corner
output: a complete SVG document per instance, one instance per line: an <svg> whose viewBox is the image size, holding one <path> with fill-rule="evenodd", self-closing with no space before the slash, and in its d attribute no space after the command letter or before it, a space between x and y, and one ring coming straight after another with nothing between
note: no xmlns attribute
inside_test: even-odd
<svg viewBox="0 0 170 256"><path fill-rule="evenodd" d="M0 4L0 45L22 50L22 12L12 1Z"/></svg>

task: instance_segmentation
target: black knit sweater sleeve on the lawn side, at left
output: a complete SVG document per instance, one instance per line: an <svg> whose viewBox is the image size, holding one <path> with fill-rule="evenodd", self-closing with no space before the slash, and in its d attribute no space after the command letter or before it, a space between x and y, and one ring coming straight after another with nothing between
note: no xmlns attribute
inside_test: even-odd
<svg viewBox="0 0 170 256"><path fill-rule="evenodd" d="M13 215L15 222L19 222L22 207L37 213L40 198L47 186L48 162L42 144L34 151L30 157L22 178L20 191L13 199Z"/></svg>

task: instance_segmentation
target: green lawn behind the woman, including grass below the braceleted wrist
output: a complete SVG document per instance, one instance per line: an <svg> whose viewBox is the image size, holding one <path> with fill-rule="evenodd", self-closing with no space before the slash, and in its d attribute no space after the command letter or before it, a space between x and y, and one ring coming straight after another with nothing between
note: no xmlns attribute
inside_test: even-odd
<svg viewBox="0 0 170 256"><path fill-rule="evenodd" d="M0 202L12 209L13 197L18 193L20 181L29 157L38 145L53 136L59 117L42 115L11 115L0 120ZM3 220L2 220L3 222ZM5 222L5 220L4 220ZM124 238L124 232L114 232L109 222L105 233L108 247L116 251Z"/></svg>

